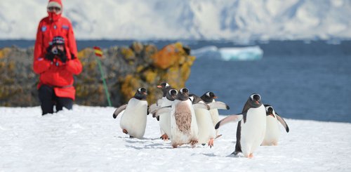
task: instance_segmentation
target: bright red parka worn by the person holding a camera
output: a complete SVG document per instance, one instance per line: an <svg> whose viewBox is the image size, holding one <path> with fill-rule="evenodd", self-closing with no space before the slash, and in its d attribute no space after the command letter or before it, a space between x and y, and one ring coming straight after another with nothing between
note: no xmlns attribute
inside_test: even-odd
<svg viewBox="0 0 351 172"><path fill-rule="evenodd" d="M51 0L58 2L60 0ZM62 11L62 10L61 10ZM40 74L38 88L46 84L54 88L55 94L61 98L75 98L73 86L73 75L80 74L82 70L81 62L77 58L77 44L71 22L63 18L60 14L48 12L48 17L39 22L37 39L34 46L34 72ZM61 62L58 58L52 61L46 60L46 48L53 40L53 37L63 37L65 39L65 50L67 62ZM72 56L74 59L72 60Z"/></svg>

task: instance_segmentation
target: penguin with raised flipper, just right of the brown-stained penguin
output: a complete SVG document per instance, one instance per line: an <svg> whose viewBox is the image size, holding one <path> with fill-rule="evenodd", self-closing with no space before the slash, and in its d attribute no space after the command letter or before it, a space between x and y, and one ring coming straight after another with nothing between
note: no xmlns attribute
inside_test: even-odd
<svg viewBox="0 0 351 172"><path fill-rule="evenodd" d="M208 92L204 93L204 95L208 94ZM212 92L211 92L212 93ZM212 95L214 95L212 93ZM205 100L203 99L204 96L198 97L197 95L194 94L190 94L190 100L192 100L192 103L208 103L208 105L210 106L210 108L212 107L213 109L204 109L204 108L197 108L197 104L194 104L194 110L195 110L195 116L197 118L197 126L199 128L199 143L201 145L206 145L206 143L208 143L208 146L211 148L213 147L213 142L214 139L217 138L216 135L216 130L215 130L215 126L213 125L213 119L211 117L211 110L217 110L214 109L216 107L213 107L213 105L217 104L219 105L220 103L223 102L216 102L216 103L212 103L212 100L208 100L207 97L205 98ZM211 102L210 102L211 101ZM225 105L225 103L223 103L223 107L225 107L225 110L229 109L229 106ZM220 108L220 109L223 109Z"/></svg>

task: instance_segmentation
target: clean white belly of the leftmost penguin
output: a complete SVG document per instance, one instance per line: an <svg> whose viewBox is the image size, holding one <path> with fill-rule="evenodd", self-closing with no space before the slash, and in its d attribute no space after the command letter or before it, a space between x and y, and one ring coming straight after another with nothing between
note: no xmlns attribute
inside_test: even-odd
<svg viewBox="0 0 351 172"><path fill-rule="evenodd" d="M128 135L143 138L147 120L147 101L131 98L122 114L119 125L128 131Z"/></svg>

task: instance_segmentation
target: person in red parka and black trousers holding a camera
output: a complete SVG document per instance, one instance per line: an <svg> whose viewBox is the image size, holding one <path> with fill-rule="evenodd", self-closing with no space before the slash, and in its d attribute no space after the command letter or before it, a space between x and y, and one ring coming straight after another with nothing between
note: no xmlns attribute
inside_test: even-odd
<svg viewBox="0 0 351 172"><path fill-rule="evenodd" d="M42 114L66 107L71 110L75 98L73 75L80 74L77 44L71 22L63 18L61 0L50 0L48 17L39 22L34 46L34 72L39 74L39 100Z"/></svg>

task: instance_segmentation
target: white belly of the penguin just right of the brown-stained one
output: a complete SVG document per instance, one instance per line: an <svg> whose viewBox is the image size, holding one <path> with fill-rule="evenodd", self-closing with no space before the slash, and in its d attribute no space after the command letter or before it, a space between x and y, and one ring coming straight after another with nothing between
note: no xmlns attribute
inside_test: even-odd
<svg viewBox="0 0 351 172"><path fill-rule="evenodd" d="M211 138L216 138L216 130L213 126L211 113L208 110L198 108L194 111L199 130L199 143L206 144Z"/></svg>

